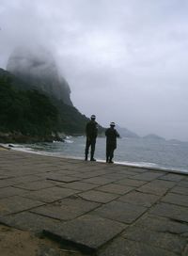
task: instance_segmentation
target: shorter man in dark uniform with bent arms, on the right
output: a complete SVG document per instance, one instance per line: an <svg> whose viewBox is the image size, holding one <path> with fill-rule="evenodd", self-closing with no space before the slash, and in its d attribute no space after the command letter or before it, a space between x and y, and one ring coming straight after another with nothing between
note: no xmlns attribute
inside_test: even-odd
<svg viewBox="0 0 188 256"><path fill-rule="evenodd" d="M115 122L110 123L110 128L105 131L106 136L106 163L114 163L112 161L114 157L114 151L117 148L117 137L119 134L115 129Z"/></svg>

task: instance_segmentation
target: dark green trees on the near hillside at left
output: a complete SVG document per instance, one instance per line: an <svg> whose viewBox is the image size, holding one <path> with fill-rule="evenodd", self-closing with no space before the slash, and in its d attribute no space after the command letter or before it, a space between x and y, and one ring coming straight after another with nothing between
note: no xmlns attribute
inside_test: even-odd
<svg viewBox="0 0 188 256"><path fill-rule="evenodd" d="M0 76L0 131L25 136L49 136L56 132L58 112L49 98L37 90L11 86L10 75Z"/></svg>

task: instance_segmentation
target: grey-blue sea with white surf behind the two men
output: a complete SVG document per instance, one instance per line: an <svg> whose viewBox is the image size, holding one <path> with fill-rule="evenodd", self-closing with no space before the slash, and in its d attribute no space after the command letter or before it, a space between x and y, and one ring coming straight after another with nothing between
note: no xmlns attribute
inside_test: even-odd
<svg viewBox="0 0 188 256"><path fill-rule="evenodd" d="M85 136L67 136L64 142L11 144L12 150L75 159L85 158ZM95 158L105 162L105 137L98 137ZM188 142L146 138L118 138L116 164L188 174Z"/></svg>

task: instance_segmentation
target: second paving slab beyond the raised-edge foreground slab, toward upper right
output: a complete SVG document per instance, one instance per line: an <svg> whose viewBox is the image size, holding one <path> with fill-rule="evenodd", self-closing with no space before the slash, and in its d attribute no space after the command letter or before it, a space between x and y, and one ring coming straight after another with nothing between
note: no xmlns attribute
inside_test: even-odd
<svg viewBox="0 0 188 256"><path fill-rule="evenodd" d="M150 195L146 193L140 193L137 191L130 192L129 194L126 194L118 200L124 201L124 202L130 202L136 205L142 205L145 207L150 207L152 204L154 204L157 200L159 200L160 197L155 195Z"/></svg>

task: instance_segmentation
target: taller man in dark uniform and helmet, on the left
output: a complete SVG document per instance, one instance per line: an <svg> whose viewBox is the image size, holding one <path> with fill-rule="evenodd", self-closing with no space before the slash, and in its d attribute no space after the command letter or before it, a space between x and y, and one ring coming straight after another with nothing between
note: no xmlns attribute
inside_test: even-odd
<svg viewBox="0 0 188 256"><path fill-rule="evenodd" d="M95 120L95 115L91 116L91 120L86 123L86 150L85 150L85 160L87 161L89 147L90 150L90 161L96 161L94 158L95 143L98 136L98 123Z"/></svg>

